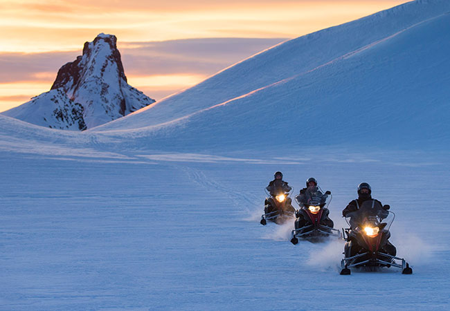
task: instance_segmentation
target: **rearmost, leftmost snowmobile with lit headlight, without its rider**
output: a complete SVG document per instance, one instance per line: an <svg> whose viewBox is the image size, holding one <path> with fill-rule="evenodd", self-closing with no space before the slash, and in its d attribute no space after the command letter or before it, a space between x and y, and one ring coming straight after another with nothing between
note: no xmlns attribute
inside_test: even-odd
<svg viewBox="0 0 450 311"><path fill-rule="evenodd" d="M296 210L291 205L292 200L290 198L294 187L291 188L290 192L276 189L274 194L269 194L267 189L264 189L264 191L266 191L268 197L264 202L264 214L261 216L261 225L267 225L267 220L280 225L294 218Z"/></svg>

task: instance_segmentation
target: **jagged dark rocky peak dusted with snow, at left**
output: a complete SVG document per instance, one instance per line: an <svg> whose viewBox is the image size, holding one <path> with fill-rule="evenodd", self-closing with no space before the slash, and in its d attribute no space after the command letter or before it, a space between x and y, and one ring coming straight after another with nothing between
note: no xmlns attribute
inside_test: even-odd
<svg viewBox="0 0 450 311"><path fill-rule="evenodd" d="M116 36L86 42L83 55L57 73L51 91L3 113L50 127L83 131L116 120L154 102L127 84Z"/></svg>

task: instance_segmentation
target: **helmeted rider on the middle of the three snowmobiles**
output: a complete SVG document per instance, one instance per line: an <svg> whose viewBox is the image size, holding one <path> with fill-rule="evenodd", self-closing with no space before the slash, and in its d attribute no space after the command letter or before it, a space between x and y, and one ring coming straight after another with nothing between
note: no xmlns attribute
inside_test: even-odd
<svg viewBox="0 0 450 311"><path fill-rule="evenodd" d="M328 195L323 194L322 191L318 189L317 186L317 180L314 177L310 177L306 180L306 188L303 188L300 190L300 194L296 196L296 201L298 202L298 205L300 207L305 207L309 204L311 200L319 200L320 199L320 205L321 207L325 206L325 201L327 200ZM324 209L325 212L325 220L323 220L323 223L327 227L333 227L334 223L333 220L331 220L328 215L330 214L330 211L328 209ZM298 215L298 227L304 227L306 225L306 220L303 218L302 214ZM301 219L300 219L301 218Z"/></svg>

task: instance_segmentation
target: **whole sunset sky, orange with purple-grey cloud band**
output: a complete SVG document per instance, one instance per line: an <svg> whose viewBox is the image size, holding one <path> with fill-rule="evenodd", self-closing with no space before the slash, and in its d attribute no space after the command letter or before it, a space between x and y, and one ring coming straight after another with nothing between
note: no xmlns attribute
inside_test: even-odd
<svg viewBox="0 0 450 311"><path fill-rule="evenodd" d="M286 39L404 0L0 0L0 112L50 90L100 32L130 85L156 100Z"/></svg>

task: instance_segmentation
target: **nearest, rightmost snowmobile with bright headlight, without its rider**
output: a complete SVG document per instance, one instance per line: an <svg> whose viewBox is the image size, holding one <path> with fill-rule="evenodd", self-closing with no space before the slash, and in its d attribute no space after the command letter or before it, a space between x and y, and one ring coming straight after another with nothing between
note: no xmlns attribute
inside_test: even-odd
<svg viewBox="0 0 450 311"><path fill-rule="evenodd" d="M397 249L388 241L389 228L395 219L395 214L388 209L388 205L381 207L377 200L366 200L357 211L345 216L350 228L342 229L347 242L341 274L350 274L350 267L365 267L370 271L399 267L403 274L413 273L404 258L396 257Z"/></svg>

